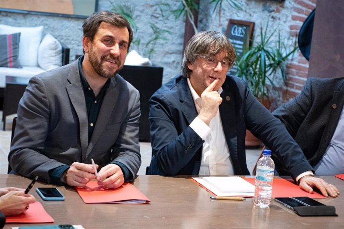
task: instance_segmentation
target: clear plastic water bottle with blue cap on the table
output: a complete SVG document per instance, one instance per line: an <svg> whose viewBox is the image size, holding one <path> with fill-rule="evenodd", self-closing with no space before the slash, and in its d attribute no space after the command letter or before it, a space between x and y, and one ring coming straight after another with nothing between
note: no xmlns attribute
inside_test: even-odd
<svg viewBox="0 0 344 229"><path fill-rule="evenodd" d="M263 156L257 162L256 187L253 203L260 208L267 208L271 203L272 181L275 163L271 159L271 150L264 149Z"/></svg>

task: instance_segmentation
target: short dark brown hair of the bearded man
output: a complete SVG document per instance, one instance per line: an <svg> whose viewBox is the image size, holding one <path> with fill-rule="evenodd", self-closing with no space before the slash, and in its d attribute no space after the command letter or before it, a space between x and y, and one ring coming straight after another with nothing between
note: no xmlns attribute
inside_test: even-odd
<svg viewBox="0 0 344 229"><path fill-rule="evenodd" d="M118 13L114 13L108 10L93 13L91 16L85 19L82 25L84 36L93 41L94 35L97 33L98 28L102 22L109 23L120 28L127 27L129 32L129 50L130 43L133 41L133 30L130 26L129 21L124 16Z"/></svg>

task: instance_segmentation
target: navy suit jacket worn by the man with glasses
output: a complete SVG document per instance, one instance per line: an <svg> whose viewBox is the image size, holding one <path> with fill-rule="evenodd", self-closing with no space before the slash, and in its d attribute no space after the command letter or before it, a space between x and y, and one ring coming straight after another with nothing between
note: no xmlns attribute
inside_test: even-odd
<svg viewBox="0 0 344 229"><path fill-rule="evenodd" d="M284 125L258 102L241 79L227 76L222 89L219 111L235 175L250 174L245 155L246 128L279 153L294 179L312 170ZM182 76L176 76L152 96L149 174L198 174L203 140L189 127L196 116L187 80Z"/></svg>

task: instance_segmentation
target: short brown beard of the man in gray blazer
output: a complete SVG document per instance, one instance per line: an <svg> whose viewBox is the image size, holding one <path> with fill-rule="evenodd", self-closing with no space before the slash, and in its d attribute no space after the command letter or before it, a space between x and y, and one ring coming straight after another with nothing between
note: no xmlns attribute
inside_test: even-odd
<svg viewBox="0 0 344 229"><path fill-rule="evenodd" d="M97 55L95 52L93 52L93 49L90 49L89 52L89 60L90 60L90 64L93 67L94 71L100 75L101 77L104 78L112 78L116 75L117 72L119 72L121 70L120 66L121 66L121 61L119 60L119 58L114 58L111 55L107 55L107 56L102 56L100 58L100 61L98 61L97 59ZM105 60L113 60L116 61L117 65L119 66L119 68L117 69L117 71L111 73L109 71L106 71L105 68L102 66L103 61Z"/></svg>

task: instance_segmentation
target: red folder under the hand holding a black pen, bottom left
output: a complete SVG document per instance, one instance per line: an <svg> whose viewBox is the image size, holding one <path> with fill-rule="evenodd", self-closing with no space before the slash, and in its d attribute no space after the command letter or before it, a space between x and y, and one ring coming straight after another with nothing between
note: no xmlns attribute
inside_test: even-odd
<svg viewBox="0 0 344 229"><path fill-rule="evenodd" d="M54 219L45 212L43 206L39 202L29 205L29 209L16 216L7 216L7 223L54 223Z"/></svg>

